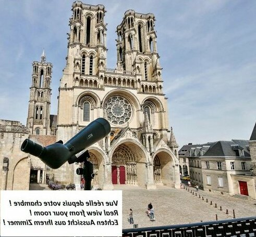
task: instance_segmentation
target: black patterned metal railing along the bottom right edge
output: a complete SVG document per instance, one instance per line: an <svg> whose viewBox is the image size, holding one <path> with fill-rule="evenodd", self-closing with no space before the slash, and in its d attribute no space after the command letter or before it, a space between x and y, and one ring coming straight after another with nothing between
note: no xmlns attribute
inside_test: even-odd
<svg viewBox="0 0 256 237"><path fill-rule="evenodd" d="M190 223L124 229L124 237L249 237L256 236L256 216Z"/></svg>

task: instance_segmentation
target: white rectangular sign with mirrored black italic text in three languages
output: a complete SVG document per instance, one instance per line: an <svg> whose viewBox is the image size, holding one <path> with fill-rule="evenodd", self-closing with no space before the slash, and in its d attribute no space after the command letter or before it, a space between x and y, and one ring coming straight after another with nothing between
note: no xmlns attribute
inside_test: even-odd
<svg viewBox="0 0 256 237"><path fill-rule="evenodd" d="M1 190L0 216L0 236L121 236L122 191Z"/></svg>

